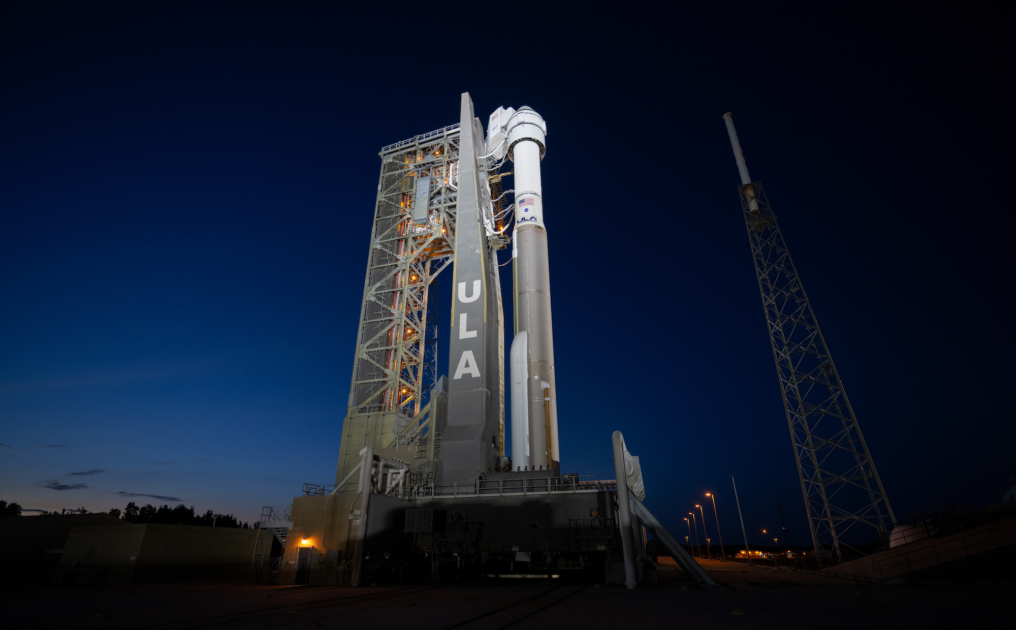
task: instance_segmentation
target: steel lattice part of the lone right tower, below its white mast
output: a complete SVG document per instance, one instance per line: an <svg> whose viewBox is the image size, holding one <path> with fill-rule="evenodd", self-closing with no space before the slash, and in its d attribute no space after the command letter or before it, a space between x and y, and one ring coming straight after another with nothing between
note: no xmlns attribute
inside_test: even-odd
<svg viewBox="0 0 1016 630"><path fill-rule="evenodd" d="M854 524L896 519L762 185L740 190L812 540L841 560Z"/></svg>

